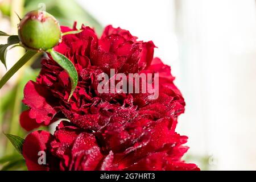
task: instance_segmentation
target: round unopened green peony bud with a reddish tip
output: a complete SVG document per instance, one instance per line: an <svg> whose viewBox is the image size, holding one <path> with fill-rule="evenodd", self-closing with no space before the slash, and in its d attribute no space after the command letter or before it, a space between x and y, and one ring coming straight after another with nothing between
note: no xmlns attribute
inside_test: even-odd
<svg viewBox="0 0 256 182"><path fill-rule="evenodd" d="M18 24L20 42L28 49L46 51L59 42L61 30L57 20L45 11L30 11Z"/></svg>

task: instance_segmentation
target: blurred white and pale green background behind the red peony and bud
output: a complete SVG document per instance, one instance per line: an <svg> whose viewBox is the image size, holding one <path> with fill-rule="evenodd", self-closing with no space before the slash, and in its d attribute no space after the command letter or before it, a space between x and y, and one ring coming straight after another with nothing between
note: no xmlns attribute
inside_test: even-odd
<svg viewBox="0 0 256 182"><path fill-rule="evenodd" d="M61 24L127 29L152 40L155 56L171 65L187 106L177 132L189 137L184 159L203 170L256 170L255 0L0 0L0 30L16 34L18 18L44 9ZM6 39L1 38L0 44ZM23 53L7 53L7 69ZM19 113L24 84L38 74L31 60L0 90L0 130L24 136ZM0 76L6 72L0 65ZM18 165L19 164L19 165ZM26 169L0 134L0 168Z"/></svg>

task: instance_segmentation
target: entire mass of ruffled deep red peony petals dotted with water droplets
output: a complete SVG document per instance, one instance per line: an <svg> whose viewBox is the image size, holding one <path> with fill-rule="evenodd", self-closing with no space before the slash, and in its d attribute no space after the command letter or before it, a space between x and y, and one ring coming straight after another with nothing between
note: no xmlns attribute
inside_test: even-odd
<svg viewBox="0 0 256 182"><path fill-rule="evenodd" d="M61 27L63 32L76 30ZM20 116L30 131L66 118L54 135L34 131L23 145L30 170L198 170L181 157L187 137L175 132L177 117L185 102L174 85L171 69L153 59L154 44L137 41L129 31L108 26L100 39L82 26L79 34L66 35L54 49L67 56L79 74L77 88L68 102L71 81L51 59L42 60L36 82L24 88L24 104L30 107ZM149 93L100 93L102 73L159 74L159 96ZM111 78L110 78L111 79ZM151 84L154 83L151 80ZM141 86L141 85L139 85ZM46 152L47 163L38 164L38 152Z"/></svg>

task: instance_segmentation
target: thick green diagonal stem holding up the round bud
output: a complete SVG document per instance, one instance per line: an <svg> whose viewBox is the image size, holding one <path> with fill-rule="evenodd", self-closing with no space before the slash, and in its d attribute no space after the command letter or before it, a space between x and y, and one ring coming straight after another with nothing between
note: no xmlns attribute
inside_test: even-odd
<svg viewBox="0 0 256 182"><path fill-rule="evenodd" d="M3 85L16 73L19 68L21 68L24 64L27 63L28 60L31 59L37 52L35 51L27 51L18 61L9 69L7 73L0 80L0 89Z"/></svg>

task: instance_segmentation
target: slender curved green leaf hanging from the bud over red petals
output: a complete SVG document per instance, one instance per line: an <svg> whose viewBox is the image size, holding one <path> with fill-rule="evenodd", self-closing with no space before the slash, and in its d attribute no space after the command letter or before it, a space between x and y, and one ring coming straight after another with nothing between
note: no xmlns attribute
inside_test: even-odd
<svg viewBox="0 0 256 182"><path fill-rule="evenodd" d="M52 56L53 60L56 61L69 75L71 78L71 93L69 95L68 101L73 95L73 92L76 89L76 85L78 82L78 75L75 66L66 56L62 55L59 52L53 51L53 49L47 50L48 53Z"/></svg>

